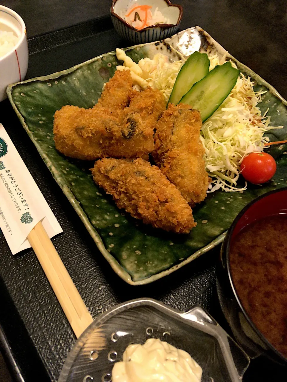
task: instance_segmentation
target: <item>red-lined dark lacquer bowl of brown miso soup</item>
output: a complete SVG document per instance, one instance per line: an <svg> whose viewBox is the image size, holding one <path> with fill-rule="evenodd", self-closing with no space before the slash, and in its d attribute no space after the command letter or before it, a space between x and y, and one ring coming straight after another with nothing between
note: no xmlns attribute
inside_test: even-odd
<svg viewBox="0 0 287 382"><path fill-rule="evenodd" d="M278 264L278 267L280 267L280 269L279 268L277 269L278 273L282 272L282 263L280 263L280 261L276 259L277 256L279 257L280 251L277 252L278 253L277 255L276 252L274 251L272 252L272 249L269 249L269 246L266 245L266 242L268 241L267 236L269 235L270 237L270 235L272 235L272 231L268 227L270 227L270 224L271 223L273 224L274 221L277 221L277 223L278 221L280 221L281 224L284 224L285 222L286 223L285 227L287 227L287 188L271 191L269 193L266 193L258 197L253 202L249 203L238 214L238 216L232 223L230 229L228 230L227 235L225 236L225 239L222 243L222 248L220 252L220 265L219 265L219 271L218 271L218 277L217 277L217 292L218 292L223 314L225 315L225 318L227 319L236 340L240 343L241 347L246 351L246 353L251 358L254 358L259 355L265 355L268 358L272 359L273 361L276 361L277 363L287 366L286 354L285 353L282 354L283 352L278 350L279 346L276 346L276 344L274 344L274 341L272 341L273 338L271 339L271 337L269 337L269 333L266 334L265 332L265 335L263 334L264 332L264 330L262 329L263 324L260 324L259 321L256 321L256 319L254 319L254 317L256 316L255 310L257 312L259 309L261 309L261 307L263 307L262 309L268 308L269 311L272 312L271 326L273 327L273 329L275 328L275 330L277 330L276 327L279 328L280 326L281 328L281 327L284 327L285 325L286 333L287 333L287 322L285 322L284 324L282 317L274 315L274 312L276 312L276 308L275 308L276 301L277 303L278 303L278 300L280 299L281 301L287 301L287 294L286 294L286 298L285 298L285 295L282 295L282 285L280 285L280 288L278 288L278 291L276 290L276 288L273 288L272 290L272 293L281 293L280 296L278 296L280 298L268 299L269 294L265 292L265 290L267 290L266 285L268 285L268 281L265 279L264 273L262 274L262 277L259 274L261 268L260 267L256 268L258 264L260 264L260 266L261 264L263 264L263 266L265 267L265 270L267 270L268 272L269 270L268 267L269 266L271 267L272 265L272 272L273 272L274 264L275 264L275 270L277 266L276 264ZM266 222L269 223L269 225ZM264 228L264 224L265 224L266 230L269 229L269 231L266 234L264 229L259 230L258 228L258 231L256 231L257 227ZM246 236L247 235L246 233L248 231L249 231L249 234L248 234L249 236ZM271 240L273 244L275 243L274 244L275 248L276 248L277 238L278 238L278 241L280 239L282 242L284 242L284 237L287 235L287 228L286 229L284 228L284 230L282 230L282 235L280 231L277 230L276 232L277 232L277 237L274 238L273 236ZM278 234L278 232L280 232L280 235ZM243 236L243 234L245 236ZM261 236L262 240L260 240L260 235L263 235ZM245 238L246 238L246 241L244 241ZM248 241L248 238L249 238L249 241ZM241 243L241 247L239 246L239 243ZM254 243L256 243L256 245L254 245ZM286 237L285 243L287 243L287 237ZM235 248L237 252L235 251ZM269 251L267 252L267 256L266 256L266 264L265 264L264 251ZM237 257L235 257L235 253ZM270 260L271 256L274 257L272 261ZM287 253L280 254L280 256L283 259L285 258L284 261L286 262L286 269L287 269ZM234 265L235 264L234 259L236 259L237 270L236 270L236 266ZM258 259L260 259L259 260L260 263L256 263ZM240 264L240 262L242 263ZM240 272L240 271L243 273L241 275L239 273L236 275L235 272ZM252 272L254 272L254 278L253 278ZM271 272L271 269L270 269L270 272ZM265 276L266 276L266 271L265 271ZM287 280L287 275L285 274L285 276ZM241 285L240 283L238 283L238 280L245 280L245 279L249 280L249 283L246 284L248 285L249 290L244 289L245 287L244 281L242 282ZM254 280L254 284L253 284L253 280ZM274 277L274 280L276 280L276 282L278 280L278 283L279 283L280 277L278 278ZM259 288L259 289L256 290L256 288ZM265 290L262 288L265 288ZM254 311L253 311L252 306L248 304L249 301L247 298L251 294L252 296L254 296L254 290L255 292L258 291L259 297L260 296L262 297L265 295L267 297L266 297L266 300L262 298L258 298L258 300L255 299L255 301L253 298L252 301L255 304ZM287 291L287 285L285 290ZM282 309L284 309L284 306L282 306ZM264 312L264 310L262 310L262 312ZM277 305L277 312L278 312L278 305ZM260 314L261 314L261 311L260 311ZM271 319L270 317L271 315L267 317L269 321ZM287 340L287 337L285 338L285 340Z"/></svg>

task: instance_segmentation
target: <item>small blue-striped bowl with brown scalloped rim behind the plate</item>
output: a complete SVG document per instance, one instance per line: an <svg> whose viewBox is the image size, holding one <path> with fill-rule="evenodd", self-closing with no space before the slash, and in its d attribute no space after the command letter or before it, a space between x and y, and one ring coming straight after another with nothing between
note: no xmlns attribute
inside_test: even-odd
<svg viewBox="0 0 287 382"><path fill-rule="evenodd" d="M130 9L132 3L137 6L149 5L152 7L152 12L158 8L163 16L169 19L170 24L155 24L143 29L134 28L120 16ZM117 33L123 39L129 40L134 44L144 44L172 36L179 28L182 15L183 8L180 5L171 4L169 0L138 0L137 2L131 0L113 0L111 6L111 18Z"/></svg>

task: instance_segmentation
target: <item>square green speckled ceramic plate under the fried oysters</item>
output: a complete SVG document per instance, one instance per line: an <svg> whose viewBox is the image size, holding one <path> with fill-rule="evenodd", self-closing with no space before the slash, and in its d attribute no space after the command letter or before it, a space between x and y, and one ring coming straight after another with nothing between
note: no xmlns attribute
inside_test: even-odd
<svg viewBox="0 0 287 382"><path fill-rule="evenodd" d="M201 28L190 28L163 42L138 45L126 49L127 55L138 62L157 52L177 60L195 50L226 53ZM235 58L229 56L233 60ZM287 139L286 101L257 74L235 60L240 70L256 81L256 90L267 93L259 105L275 126L272 141ZM194 208L197 227L189 235L175 235L143 225L117 209L110 196L98 188L88 170L91 162L71 160L55 150L53 115L63 105L92 107L101 94L103 84L113 76L119 62L115 52L93 58L71 69L49 76L29 79L10 85L8 97L24 129L37 147L55 180L68 197L85 224L99 250L114 271L133 285L150 283L170 274L219 244L238 212L255 197L287 185L287 146L272 148L277 160L273 181L263 186L250 186L243 193L218 191L209 194Z"/></svg>

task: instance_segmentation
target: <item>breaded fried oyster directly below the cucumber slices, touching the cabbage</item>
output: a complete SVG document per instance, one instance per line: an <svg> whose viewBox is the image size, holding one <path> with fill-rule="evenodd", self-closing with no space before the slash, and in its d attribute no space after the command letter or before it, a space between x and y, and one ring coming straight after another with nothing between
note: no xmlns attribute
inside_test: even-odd
<svg viewBox="0 0 287 382"><path fill-rule="evenodd" d="M202 120L189 105L168 105L157 123L153 158L188 203L203 201L209 183L199 138Z"/></svg>

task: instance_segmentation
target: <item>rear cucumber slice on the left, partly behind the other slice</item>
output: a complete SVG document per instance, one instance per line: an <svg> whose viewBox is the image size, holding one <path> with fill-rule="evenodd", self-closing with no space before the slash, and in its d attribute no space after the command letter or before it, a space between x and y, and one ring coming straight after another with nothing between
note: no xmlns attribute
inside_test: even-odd
<svg viewBox="0 0 287 382"><path fill-rule="evenodd" d="M168 103L177 105L184 94L200 81L209 70L210 61L206 53L194 52L188 57L176 77Z"/></svg>

